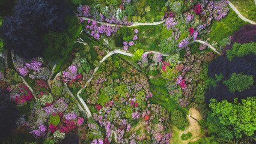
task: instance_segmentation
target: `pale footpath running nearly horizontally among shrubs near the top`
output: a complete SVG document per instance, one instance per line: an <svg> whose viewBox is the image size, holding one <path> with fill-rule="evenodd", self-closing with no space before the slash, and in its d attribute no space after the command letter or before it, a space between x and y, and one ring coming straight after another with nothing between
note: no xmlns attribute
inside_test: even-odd
<svg viewBox="0 0 256 144"><path fill-rule="evenodd" d="M103 24L103 25L108 25L108 26L127 26L128 28L133 27L133 26L146 26L146 25L159 25L161 23L165 22L165 19L159 22L153 22L153 23L133 23L132 25L120 25L120 24L115 24L115 23L107 23L107 22L100 22L98 20L91 19L89 17L78 17L78 19L83 19L83 20L91 20L95 21L97 23Z"/></svg>

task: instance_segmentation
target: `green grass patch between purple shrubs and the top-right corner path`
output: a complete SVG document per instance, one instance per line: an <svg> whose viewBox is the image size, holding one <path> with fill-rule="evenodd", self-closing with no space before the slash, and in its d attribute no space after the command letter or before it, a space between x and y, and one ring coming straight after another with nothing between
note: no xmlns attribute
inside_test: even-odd
<svg viewBox="0 0 256 144"><path fill-rule="evenodd" d="M212 27L210 34L204 40L207 40L207 38L210 38L209 42L212 43L213 41L219 42L223 38L226 38L228 36L231 36L236 32L238 29L242 28L242 26L249 24L247 22L244 22L242 19L240 19L237 14L230 8L230 11L228 12L227 16L225 16L223 19L217 21L213 20Z"/></svg>

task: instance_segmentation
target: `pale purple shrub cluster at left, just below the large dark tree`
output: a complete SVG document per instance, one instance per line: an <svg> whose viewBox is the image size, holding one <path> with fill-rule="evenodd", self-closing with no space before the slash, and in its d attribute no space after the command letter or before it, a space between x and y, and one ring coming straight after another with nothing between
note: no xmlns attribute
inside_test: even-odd
<svg viewBox="0 0 256 144"><path fill-rule="evenodd" d="M50 69L43 67L43 62L40 58L33 58L30 62L25 62L24 58L14 56L14 67L22 76L29 76L31 79L47 80L50 76Z"/></svg>

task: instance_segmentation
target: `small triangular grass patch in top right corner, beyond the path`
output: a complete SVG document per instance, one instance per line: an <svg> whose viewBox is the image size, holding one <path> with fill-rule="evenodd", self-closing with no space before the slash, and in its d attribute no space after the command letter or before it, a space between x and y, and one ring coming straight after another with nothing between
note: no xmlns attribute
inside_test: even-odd
<svg viewBox="0 0 256 144"><path fill-rule="evenodd" d="M256 5L254 0L230 0L239 12L249 20L256 22Z"/></svg>

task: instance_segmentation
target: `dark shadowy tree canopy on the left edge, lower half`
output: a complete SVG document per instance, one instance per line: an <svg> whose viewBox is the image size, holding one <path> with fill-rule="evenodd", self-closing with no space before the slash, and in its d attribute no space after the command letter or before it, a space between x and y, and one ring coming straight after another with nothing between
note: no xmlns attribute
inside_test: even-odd
<svg viewBox="0 0 256 144"><path fill-rule="evenodd" d="M16 128L19 112L14 101L10 100L10 94L4 88L0 88L0 142Z"/></svg>

